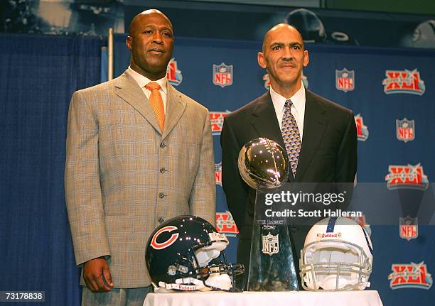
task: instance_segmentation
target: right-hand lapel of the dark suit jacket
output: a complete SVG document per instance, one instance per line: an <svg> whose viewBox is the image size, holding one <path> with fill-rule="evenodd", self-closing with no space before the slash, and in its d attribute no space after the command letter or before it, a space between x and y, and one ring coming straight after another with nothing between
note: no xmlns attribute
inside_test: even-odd
<svg viewBox="0 0 435 306"><path fill-rule="evenodd" d="M323 133L326 129L326 121L323 118L325 109L314 95L308 90L306 93L305 116L304 116L304 138L302 139L301 154L298 168L296 170L296 182L301 182L306 169L311 163L316 149L321 143Z"/></svg>

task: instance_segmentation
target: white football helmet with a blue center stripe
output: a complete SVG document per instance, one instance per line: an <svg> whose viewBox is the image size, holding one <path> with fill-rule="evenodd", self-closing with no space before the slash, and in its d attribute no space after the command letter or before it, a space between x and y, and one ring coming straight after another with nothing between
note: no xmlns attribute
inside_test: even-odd
<svg viewBox="0 0 435 306"><path fill-rule="evenodd" d="M300 275L306 290L364 290L370 286L373 246L360 224L331 217L314 224L301 251Z"/></svg>

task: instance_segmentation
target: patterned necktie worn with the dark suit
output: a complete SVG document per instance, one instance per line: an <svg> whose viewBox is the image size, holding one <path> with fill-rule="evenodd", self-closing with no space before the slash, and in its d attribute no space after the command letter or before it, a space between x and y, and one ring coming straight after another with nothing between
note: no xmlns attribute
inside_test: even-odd
<svg viewBox="0 0 435 306"><path fill-rule="evenodd" d="M289 99L284 105L285 111L284 116L282 116L281 133L286 145L287 155L289 155L291 172L295 176L296 168L298 168L299 153L301 153L301 135L299 134L296 119L291 114L290 108L292 104L293 102Z"/></svg>

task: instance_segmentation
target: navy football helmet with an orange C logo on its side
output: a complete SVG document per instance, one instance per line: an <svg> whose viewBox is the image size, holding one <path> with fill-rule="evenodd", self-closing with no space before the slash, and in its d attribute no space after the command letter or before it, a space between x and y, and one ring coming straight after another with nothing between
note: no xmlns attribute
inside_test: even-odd
<svg viewBox="0 0 435 306"><path fill-rule="evenodd" d="M146 267L155 292L235 291L242 264L229 264L225 234L202 218L180 216L158 226L146 244Z"/></svg>

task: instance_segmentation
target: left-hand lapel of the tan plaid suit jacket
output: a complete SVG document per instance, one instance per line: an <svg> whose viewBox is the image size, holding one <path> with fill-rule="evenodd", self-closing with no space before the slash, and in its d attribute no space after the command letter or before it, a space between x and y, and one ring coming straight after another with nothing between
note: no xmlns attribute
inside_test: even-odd
<svg viewBox="0 0 435 306"><path fill-rule="evenodd" d="M118 77L115 83L115 94L124 99L125 102L134 107L144 118L149 121L149 124L161 133L159 122L156 114L154 114L151 104L136 81L131 78L126 72Z"/></svg>

